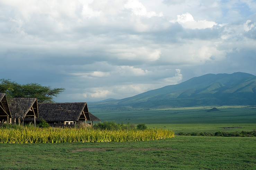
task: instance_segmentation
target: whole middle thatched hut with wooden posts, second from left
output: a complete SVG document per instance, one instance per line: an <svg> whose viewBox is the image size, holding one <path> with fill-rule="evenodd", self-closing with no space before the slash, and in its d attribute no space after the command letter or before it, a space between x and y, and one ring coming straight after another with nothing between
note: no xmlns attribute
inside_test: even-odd
<svg viewBox="0 0 256 170"><path fill-rule="evenodd" d="M33 123L36 126L38 119L38 103L36 98L13 98L10 99L10 111L12 123Z"/></svg>

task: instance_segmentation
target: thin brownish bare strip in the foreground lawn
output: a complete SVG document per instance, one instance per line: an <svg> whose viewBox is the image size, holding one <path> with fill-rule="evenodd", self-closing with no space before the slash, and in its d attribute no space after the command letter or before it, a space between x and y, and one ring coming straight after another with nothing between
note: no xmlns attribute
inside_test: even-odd
<svg viewBox="0 0 256 170"><path fill-rule="evenodd" d="M164 151L173 150L170 148L79 148L71 151L72 153L77 152L106 152L106 151Z"/></svg>

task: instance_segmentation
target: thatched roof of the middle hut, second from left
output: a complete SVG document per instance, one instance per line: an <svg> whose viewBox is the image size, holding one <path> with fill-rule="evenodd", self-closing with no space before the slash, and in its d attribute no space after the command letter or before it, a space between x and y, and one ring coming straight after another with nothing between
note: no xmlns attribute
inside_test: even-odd
<svg viewBox="0 0 256 170"><path fill-rule="evenodd" d="M25 118L30 108L34 109L36 118L38 118L38 104L36 98L13 98L10 99L10 110L12 118Z"/></svg>

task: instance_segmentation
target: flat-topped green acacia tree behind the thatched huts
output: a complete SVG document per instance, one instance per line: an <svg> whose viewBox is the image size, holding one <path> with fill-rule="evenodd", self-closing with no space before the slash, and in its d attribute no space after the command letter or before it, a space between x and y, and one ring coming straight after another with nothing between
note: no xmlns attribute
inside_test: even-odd
<svg viewBox="0 0 256 170"><path fill-rule="evenodd" d="M37 83L19 84L9 79L0 80L0 93L6 93L8 98L37 98L38 102L54 102L53 97L58 97L64 90Z"/></svg>

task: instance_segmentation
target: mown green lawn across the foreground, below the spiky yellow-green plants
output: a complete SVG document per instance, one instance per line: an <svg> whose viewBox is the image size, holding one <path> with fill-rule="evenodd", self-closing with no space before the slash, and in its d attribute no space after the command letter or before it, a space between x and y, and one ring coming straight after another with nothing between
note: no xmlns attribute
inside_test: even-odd
<svg viewBox="0 0 256 170"><path fill-rule="evenodd" d="M0 144L0 169L256 169L256 138Z"/></svg>

